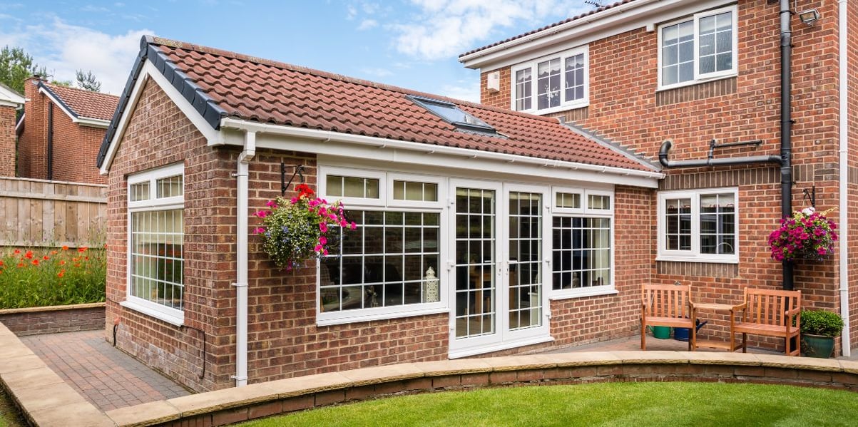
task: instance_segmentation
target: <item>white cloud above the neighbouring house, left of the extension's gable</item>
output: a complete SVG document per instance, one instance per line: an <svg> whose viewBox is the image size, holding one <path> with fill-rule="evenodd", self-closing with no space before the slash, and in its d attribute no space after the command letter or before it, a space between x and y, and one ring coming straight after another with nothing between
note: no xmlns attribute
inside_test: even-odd
<svg viewBox="0 0 858 427"><path fill-rule="evenodd" d="M75 81L77 69L92 71L101 81L101 92L119 94L128 80L131 65L140 51L140 38L152 31L130 30L112 35L88 27L77 27L54 18L48 24L0 30L0 45L15 45L27 51L33 62L44 66L54 80Z"/></svg>

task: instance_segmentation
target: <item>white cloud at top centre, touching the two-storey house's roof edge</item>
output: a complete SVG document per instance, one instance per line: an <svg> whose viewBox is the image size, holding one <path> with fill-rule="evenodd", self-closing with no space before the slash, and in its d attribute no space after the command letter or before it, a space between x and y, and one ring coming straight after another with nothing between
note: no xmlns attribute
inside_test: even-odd
<svg viewBox="0 0 858 427"><path fill-rule="evenodd" d="M455 57L498 39L498 29L528 23L539 27L590 6L568 6L559 0L411 0L420 14L411 21L391 24L398 51L426 60ZM506 37L515 34L507 34Z"/></svg>

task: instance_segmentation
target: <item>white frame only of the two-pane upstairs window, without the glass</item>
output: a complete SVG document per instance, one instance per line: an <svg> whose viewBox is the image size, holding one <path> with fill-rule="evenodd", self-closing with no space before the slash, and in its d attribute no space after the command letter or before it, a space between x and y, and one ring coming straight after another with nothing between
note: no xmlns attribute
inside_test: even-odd
<svg viewBox="0 0 858 427"><path fill-rule="evenodd" d="M700 20L713 15L720 15L723 13L731 12L733 18L733 31L732 31L732 54L733 54L733 68L725 69L723 71L715 71L712 73L706 73L704 75L700 74ZM664 42L662 33L665 27L670 27L676 24L681 24L683 22L694 22L694 78L689 81L680 81L678 83L674 83L671 85L662 84L662 43ZM724 8L711 9L706 10L705 12L699 12L694 15L685 16L683 18L664 22L659 24L657 30L658 44L656 48L658 49L658 85L657 90L668 90L674 89L676 87L686 87L696 85L698 83L702 83L704 81L713 81L728 77L734 77L739 75L739 8L734 4L732 6L727 6Z"/></svg>

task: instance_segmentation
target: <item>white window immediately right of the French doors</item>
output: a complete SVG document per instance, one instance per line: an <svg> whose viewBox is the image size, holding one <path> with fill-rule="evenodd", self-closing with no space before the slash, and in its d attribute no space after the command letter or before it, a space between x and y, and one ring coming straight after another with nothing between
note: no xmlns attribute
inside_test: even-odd
<svg viewBox="0 0 858 427"><path fill-rule="evenodd" d="M616 292L613 191L553 189L551 298Z"/></svg>

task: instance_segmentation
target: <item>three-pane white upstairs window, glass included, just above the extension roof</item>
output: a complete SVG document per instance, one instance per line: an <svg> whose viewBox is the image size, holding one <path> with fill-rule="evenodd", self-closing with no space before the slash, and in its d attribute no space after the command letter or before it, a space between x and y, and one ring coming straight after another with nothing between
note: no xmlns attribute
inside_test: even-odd
<svg viewBox="0 0 858 427"><path fill-rule="evenodd" d="M589 104L587 46L512 67L511 105L539 114Z"/></svg>

